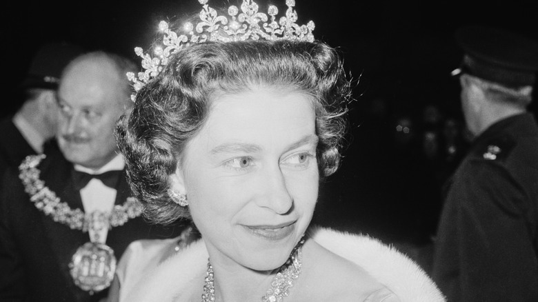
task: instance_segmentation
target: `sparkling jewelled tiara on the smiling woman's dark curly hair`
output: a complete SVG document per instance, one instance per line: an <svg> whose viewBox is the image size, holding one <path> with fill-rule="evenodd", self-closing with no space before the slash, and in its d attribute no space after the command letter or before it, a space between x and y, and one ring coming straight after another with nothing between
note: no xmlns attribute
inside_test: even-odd
<svg viewBox="0 0 538 302"><path fill-rule="evenodd" d="M196 25L186 22L183 24L181 32L174 32L168 27L166 21L159 23L159 30L163 32L163 46L156 46L153 49L154 57L144 53L142 48L135 48L137 56L142 58L143 72L128 72L129 81L134 83L135 94L131 99L135 101L136 92L151 79L157 77L164 66L168 63L171 54L187 48L192 44L204 43L206 41L246 41L246 40L294 40L294 41L314 41L312 31L315 28L314 22L309 21L306 25L299 25L297 12L293 9L295 0L286 0L286 16L280 17L277 22L279 12L277 6L269 6L268 14L258 12L258 5L253 0L243 0L241 12L237 6L228 8L228 16L218 15L217 10L208 6L208 0L198 0L203 8L199 13L200 21Z"/></svg>

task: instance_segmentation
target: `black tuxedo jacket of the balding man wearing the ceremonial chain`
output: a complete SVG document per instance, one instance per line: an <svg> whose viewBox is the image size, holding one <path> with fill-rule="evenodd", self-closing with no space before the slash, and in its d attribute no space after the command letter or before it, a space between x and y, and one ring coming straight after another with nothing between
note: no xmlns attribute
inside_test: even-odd
<svg viewBox="0 0 538 302"><path fill-rule="evenodd" d="M72 182L72 163L57 146L49 147L38 166L40 179L70 208L83 210L80 192ZM116 189L115 204L131 196L125 171ZM119 260L132 241L174 237L181 229L181 225L150 225L137 217L108 230L106 244ZM99 301L108 290L94 294L81 290L68 267L77 248L88 241L88 232L72 230L38 210L17 170L6 172L0 195L0 301Z"/></svg>

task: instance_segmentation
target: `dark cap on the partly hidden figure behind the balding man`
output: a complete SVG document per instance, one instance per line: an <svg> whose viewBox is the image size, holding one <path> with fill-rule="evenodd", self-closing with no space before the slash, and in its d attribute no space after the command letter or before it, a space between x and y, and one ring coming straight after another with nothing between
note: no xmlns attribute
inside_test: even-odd
<svg viewBox="0 0 538 302"><path fill-rule="evenodd" d="M63 68L83 53L83 48L70 43L47 43L41 46L32 57L30 69L19 87L57 89Z"/></svg>

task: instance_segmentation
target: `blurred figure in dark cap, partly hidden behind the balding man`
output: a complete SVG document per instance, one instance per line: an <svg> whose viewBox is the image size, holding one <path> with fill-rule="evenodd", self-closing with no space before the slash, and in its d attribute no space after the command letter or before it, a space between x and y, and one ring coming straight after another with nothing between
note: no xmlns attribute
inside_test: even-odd
<svg viewBox="0 0 538 302"><path fill-rule="evenodd" d="M43 143L54 137L57 127L56 92L63 68L83 53L70 43L46 43L34 54L30 69L19 85L14 114L0 121L0 175L17 167L30 154L43 152Z"/></svg>

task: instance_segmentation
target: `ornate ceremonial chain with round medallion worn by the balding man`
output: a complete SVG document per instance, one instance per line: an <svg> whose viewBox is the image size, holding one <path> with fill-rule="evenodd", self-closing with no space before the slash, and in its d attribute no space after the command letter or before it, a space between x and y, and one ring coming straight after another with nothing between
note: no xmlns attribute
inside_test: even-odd
<svg viewBox="0 0 538 302"><path fill-rule="evenodd" d="M123 225L129 219L138 217L142 207L138 199L128 197L123 205L114 205L112 212L94 211L84 213L80 209L72 209L66 202L61 202L56 193L50 190L45 182L39 179L41 171L37 168L45 159L45 154L33 155L19 165L19 178L24 190L30 195L35 207L50 216L54 221L68 225L71 230L90 232L90 242L81 245L73 254L69 263L70 274L74 284L82 290L93 294L110 286L116 270L114 250L99 238L99 230L110 230Z"/></svg>

